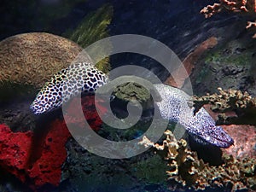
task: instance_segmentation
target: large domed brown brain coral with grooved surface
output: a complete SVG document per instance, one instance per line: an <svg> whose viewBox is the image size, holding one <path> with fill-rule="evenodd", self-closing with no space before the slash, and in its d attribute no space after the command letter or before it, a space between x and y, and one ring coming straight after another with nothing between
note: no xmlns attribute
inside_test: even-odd
<svg viewBox="0 0 256 192"><path fill-rule="evenodd" d="M0 84L29 84L41 87L50 77L69 66L82 48L59 36L31 32L0 42ZM83 61L90 62L84 55Z"/></svg>

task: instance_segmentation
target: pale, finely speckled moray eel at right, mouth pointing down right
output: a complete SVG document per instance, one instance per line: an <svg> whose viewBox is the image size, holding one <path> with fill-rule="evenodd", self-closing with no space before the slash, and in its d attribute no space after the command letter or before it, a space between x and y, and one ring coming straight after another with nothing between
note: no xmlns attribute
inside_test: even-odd
<svg viewBox="0 0 256 192"><path fill-rule="evenodd" d="M183 90L166 84L154 84L154 87L162 98L161 102L156 102L162 118L183 125L198 143L211 143L219 148L229 148L234 144L222 127L215 125L214 119L205 108L201 108L194 115L195 108L189 106L191 97Z"/></svg>

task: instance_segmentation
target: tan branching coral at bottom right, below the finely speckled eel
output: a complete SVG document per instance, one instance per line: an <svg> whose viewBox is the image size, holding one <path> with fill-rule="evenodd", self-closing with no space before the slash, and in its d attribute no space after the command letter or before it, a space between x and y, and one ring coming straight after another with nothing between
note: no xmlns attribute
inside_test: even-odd
<svg viewBox="0 0 256 192"><path fill-rule="evenodd" d="M223 165L209 166L187 148L185 140L177 141L171 131L166 131L165 135L166 140L162 144L152 143L147 137L143 137L140 144L152 146L164 155L169 166L166 171L169 181L176 181L189 189L228 186L232 191L256 189L256 160L236 160L233 156L223 156Z"/></svg>

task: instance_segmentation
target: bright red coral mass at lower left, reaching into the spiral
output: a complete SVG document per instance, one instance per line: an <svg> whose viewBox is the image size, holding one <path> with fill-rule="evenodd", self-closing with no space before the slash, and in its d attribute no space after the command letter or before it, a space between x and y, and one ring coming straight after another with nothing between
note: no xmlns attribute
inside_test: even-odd
<svg viewBox="0 0 256 192"><path fill-rule="evenodd" d="M84 119L73 118L76 110L73 109L72 103L68 106L72 111L69 119L79 125ZM102 121L96 113L94 96L84 97L82 107L90 126L98 130ZM49 129L40 127L48 130L43 134L45 136L42 135L40 138L43 144L33 146L35 134L32 131L13 132L7 125L0 125L0 166L34 190L47 183L57 186L61 180L61 166L67 158L65 143L71 135L64 119L55 119L47 126ZM38 151L39 156L36 153Z"/></svg>

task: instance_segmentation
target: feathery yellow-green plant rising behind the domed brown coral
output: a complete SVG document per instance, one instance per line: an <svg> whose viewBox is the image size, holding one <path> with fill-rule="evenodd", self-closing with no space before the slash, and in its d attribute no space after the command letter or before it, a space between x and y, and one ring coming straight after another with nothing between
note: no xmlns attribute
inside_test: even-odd
<svg viewBox="0 0 256 192"><path fill-rule="evenodd" d="M84 17L74 30L69 29L63 36L73 40L81 47L86 48L90 44L102 38L108 38L108 25L113 16L113 6L105 4L95 12ZM109 47L111 49L111 47ZM105 48L96 48L96 59L107 53ZM110 70L109 57L105 57L102 61L96 63L96 67L103 73L108 73Z"/></svg>

